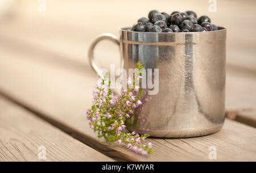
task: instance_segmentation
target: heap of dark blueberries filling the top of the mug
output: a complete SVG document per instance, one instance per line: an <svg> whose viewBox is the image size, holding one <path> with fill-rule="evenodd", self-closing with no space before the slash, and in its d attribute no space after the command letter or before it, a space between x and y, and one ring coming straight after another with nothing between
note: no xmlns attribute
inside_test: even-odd
<svg viewBox="0 0 256 173"><path fill-rule="evenodd" d="M197 19L193 11L174 11L171 15L158 10L151 10L148 18L140 18L131 31L138 32L204 32L216 31L218 27L210 23L206 15Z"/></svg>

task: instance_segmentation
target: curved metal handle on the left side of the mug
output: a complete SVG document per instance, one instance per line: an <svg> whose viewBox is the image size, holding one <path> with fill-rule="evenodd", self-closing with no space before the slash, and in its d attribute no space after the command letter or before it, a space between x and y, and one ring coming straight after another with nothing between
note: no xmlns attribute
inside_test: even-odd
<svg viewBox="0 0 256 173"><path fill-rule="evenodd" d="M119 39L117 36L113 35L112 33L102 33L101 35L98 35L96 39L93 41L93 43L90 45L89 52L88 52L88 57L89 57L89 62L94 71L101 77L103 78L104 75L100 73L100 66L97 64L97 62L94 60L94 48L97 45L98 42L101 40L110 40L113 41L115 44L119 45ZM123 68L123 59L121 59L121 67Z"/></svg>

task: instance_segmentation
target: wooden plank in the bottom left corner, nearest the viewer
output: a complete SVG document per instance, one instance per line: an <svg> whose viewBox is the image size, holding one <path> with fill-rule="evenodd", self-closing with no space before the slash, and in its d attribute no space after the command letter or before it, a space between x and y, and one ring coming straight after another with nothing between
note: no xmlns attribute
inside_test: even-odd
<svg viewBox="0 0 256 173"><path fill-rule="evenodd" d="M113 161L0 96L0 162ZM46 159L38 154L46 147Z"/></svg>

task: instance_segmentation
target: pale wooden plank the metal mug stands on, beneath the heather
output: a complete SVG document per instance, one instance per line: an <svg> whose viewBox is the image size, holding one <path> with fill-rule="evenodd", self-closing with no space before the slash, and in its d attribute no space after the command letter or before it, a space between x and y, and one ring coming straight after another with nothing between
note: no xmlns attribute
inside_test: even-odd
<svg viewBox="0 0 256 173"><path fill-rule="evenodd" d="M218 133L184 139L150 138L154 153L141 156L124 145L98 140L84 111L91 105L95 75L43 64L0 48L0 90L38 116L118 161L209 161L209 146L217 161L256 161L256 129L226 120Z"/></svg>

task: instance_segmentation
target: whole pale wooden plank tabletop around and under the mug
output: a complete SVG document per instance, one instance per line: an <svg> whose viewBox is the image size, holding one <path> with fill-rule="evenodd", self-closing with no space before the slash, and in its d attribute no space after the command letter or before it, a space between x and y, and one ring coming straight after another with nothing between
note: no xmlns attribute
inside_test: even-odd
<svg viewBox="0 0 256 173"><path fill-rule="evenodd" d="M47 11L39 13L36 1L18 3L13 18L0 20L0 161L213 161L208 158L209 146L217 148L215 161L256 161L256 25L241 26L243 37L234 29L243 11L254 21L255 1L250 5L218 1L216 14L203 5L193 6L191 1L185 2L187 6L170 4L184 11L193 6L230 28L226 75L229 119L220 132L209 136L148 138L154 147L148 156L137 155L125 145L98 140L89 128L84 113L92 104L97 75L90 69L86 53L99 33L118 35L118 27L134 23L148 9L172 10L156 4L141 10L143 1L125 9L120 8L120 1L51 1ZM230 11L240 6L237 20L224 11L226 5ZM129 9L137 12L129 14ZM104 20L112 20L95 22L102 14L106 14ZM223 14L230 20L220 17ZM119 64L118 48L106 43L96 49L100 64ZM38 159L39 146L46 147L46 160Z"/></svg>

